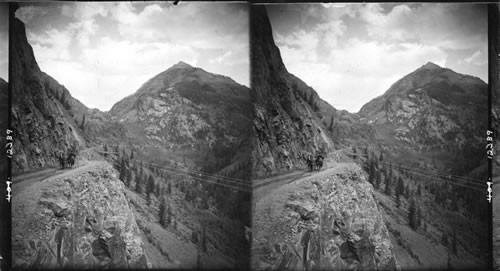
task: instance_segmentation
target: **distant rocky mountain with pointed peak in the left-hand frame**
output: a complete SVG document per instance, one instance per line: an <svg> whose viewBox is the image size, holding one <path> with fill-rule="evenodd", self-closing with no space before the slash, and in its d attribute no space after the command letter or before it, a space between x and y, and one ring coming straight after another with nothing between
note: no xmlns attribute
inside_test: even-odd
<svg viewBox="0 0 500 271"><path fill-rule="evenodd" d="M192 165L212 172L248 162L242 150L250 148L250 89L227 76L181 61L117 102L109 113L127 127L132 145L158 158L188 157ZM214 151L225 157L213 157Z"/></svg>

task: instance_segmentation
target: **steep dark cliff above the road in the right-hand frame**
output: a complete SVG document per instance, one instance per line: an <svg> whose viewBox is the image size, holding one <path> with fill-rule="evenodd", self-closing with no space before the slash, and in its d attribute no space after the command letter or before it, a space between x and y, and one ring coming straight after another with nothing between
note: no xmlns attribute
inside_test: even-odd
<svg viewBox="0 0 500 271"><path fill-rule="evenodd" d="M265 176L305 166L307 153L327 152L333 142L322 117L335 109L288 73L263 6L251 9L252 88L255 91L253 174Z"/></svg>

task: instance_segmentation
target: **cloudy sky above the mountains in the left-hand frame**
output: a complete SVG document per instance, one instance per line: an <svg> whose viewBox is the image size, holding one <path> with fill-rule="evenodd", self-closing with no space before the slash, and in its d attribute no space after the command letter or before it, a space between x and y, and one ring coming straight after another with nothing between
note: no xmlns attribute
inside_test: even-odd
<svg viewBox="0 0 500 271"><path fill-rule="evenodd" d="M179 61L249 86L242 4L21 4L40 68L90 108L109 110Z"/></svg>

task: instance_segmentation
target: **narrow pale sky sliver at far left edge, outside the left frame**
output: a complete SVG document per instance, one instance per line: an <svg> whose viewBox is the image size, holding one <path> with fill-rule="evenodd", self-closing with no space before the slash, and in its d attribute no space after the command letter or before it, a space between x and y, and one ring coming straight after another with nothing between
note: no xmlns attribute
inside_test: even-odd
<svg viewBox="0 0 500 271"><path fill-rule="evenodd" d="M0 3L0 78L9 81L9 4Z"/></svg>

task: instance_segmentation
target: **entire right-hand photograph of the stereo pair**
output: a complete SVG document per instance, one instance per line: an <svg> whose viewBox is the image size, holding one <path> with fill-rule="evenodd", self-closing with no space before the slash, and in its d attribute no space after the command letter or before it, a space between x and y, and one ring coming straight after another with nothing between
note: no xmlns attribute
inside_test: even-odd
<svg viewBox="0 0 500 271"><path fill-rule="evenodd" d="M252 270L488 269L487 11L252 6Z"/></svg>

